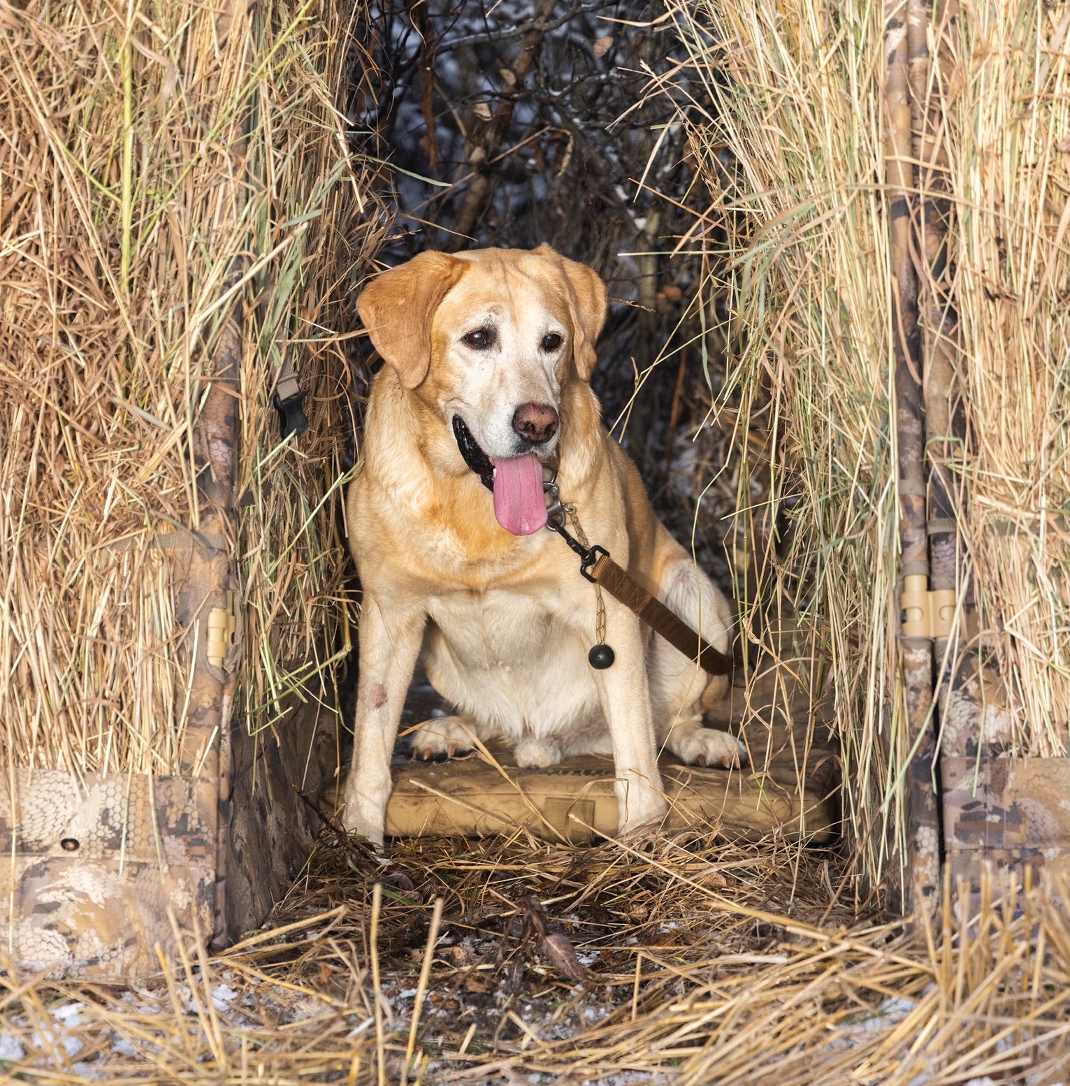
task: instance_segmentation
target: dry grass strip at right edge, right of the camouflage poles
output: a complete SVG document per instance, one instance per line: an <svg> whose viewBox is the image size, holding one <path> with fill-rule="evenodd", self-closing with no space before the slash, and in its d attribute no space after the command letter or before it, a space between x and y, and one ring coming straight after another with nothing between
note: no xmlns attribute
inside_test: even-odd
<svg viewBox="0 0 1070 1086"><path fill-rule="evenodd" d="M969 442L962 527L1006 714L985 736L1070 748L1070 11L987 2L951 88Z"/></svg>

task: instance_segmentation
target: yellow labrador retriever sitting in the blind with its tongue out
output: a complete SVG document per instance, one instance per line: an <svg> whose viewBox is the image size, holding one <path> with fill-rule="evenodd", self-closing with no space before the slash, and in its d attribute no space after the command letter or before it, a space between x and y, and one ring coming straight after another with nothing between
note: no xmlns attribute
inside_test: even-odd
<svg viewBox="0 0 1070 1086"><path fill-rule="evenodd" d="M728 602L654 515L601 425L588 382L606 307L599 276L545 245L424 253L357 301L388 365L347 502L364 607L344 824L377 844L417 657L456 712L420 727L417 755L452 755L473 734L503 740L527 767L612 753L620 832L666 809L663 744L691 763L743 757L731 735L702 727L726 680L608 595L605 641L616 659L605 670L588 662L594 588L565 542L540 530L543 467L556 465L562 498L590 540L727 651ZM493 464L493 495L460 441Z"/></svg>

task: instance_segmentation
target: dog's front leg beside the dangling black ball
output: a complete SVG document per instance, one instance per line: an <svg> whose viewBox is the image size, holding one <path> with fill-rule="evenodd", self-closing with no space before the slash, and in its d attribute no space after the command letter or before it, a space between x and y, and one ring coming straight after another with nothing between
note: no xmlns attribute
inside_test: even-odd
<svg viewBox="0 0 1070 1086"><path fill-rule="evenodd" d="M668 804L657 771L642 627L615 599L606 599L605 607L615 660L607 670L594 671L594 681L613 743L618 832L628 833L659 818Z"/></svg>

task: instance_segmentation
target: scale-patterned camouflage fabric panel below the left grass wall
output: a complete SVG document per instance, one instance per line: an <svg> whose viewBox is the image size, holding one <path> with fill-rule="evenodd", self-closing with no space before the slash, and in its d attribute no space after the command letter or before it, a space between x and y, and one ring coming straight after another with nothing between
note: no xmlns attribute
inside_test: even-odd
<svg viewBox="0 0 1070 1086"><path fill-rule="evenodd" d="M211 937L215 780L14 770L0 785L0 952L102 982L160 969L179 927Z"/></svg>

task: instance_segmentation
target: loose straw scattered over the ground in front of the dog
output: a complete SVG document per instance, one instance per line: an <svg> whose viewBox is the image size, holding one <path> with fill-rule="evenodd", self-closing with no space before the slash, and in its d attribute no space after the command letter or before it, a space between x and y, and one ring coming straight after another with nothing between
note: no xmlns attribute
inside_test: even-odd
<svg viewBox="0 0 1070 1086"><path fill-rule="evenodd" d="M945 904L935 929L905 934L854 918L831 857L715 836L627 849L440 839L383 866L328 832L279 927L211 959L187 944L160 988L7 978L0 1061L42 1083L1054 1086L1070 1074L1070 923L1052 887L1017 910L990 893L968 923ZM538 924L524 939L529 895L581 984Z"/></svg>

